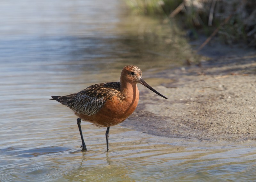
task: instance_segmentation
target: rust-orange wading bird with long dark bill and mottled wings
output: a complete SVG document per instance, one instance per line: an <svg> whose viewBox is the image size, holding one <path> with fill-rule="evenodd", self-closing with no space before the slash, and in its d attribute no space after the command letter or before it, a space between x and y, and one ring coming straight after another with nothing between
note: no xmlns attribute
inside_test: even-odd
<svg viewBox="0 0 256 182"><path fill-rule="evenodd" d="M142 78L142 72L135 65L125 66L120 75L120 82L107 82L91 85L84 90L65 96L52 96L52 99L74 111L82 140L81 151L86 145L81 129L81 121L89 121L98 127L107 127L105 136L109 151L109 128L122 123L136 109L139 102L137 83L144 85L157 95L164 95L149 86Z"/></svg>

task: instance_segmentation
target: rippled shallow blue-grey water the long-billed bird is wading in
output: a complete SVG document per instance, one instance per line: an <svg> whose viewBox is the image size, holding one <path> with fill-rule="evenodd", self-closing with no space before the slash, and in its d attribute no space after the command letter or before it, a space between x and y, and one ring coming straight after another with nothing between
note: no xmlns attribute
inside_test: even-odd
<svg viewBox="0 0 256 182"><path fill-rule="evenodd" d="M159 70L180 64L175 59L181 57L179 51L149 56L164 44L138 41L132 30L120 27L125 11L119 1L27 0L2 5L1 181L256 180L254 141L175 139L117 125L110 128L107 153L106 129L83 122L88 151L81 152L76 117L50 96L118 81L127 64L138 64L148 83L155 85L150 78L159 77Z"/></svg>

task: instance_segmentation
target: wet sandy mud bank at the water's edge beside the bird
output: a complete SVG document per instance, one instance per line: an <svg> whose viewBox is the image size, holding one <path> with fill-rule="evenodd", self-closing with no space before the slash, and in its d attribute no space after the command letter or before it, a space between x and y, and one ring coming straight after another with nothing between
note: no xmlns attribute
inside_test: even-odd
<svg viewBox="0 0 256 182"><path fill-rule="evenodd" d="M158 73L156 90L140 87L140 102L123 123L142 132L199 140L256 139L255 50L207 46L210 60ZM210 55L212 54L212 55Z"/></svg>

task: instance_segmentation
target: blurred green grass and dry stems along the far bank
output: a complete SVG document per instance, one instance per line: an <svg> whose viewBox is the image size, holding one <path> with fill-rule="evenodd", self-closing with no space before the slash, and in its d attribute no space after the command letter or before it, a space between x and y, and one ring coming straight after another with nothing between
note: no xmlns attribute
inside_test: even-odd
<svg viewBox="0 0 256 182"><path fill-rule="evenodd" d="M227 44L256 46L255 0L126 0L135 14L179 20L180 26Z"/></svg>

